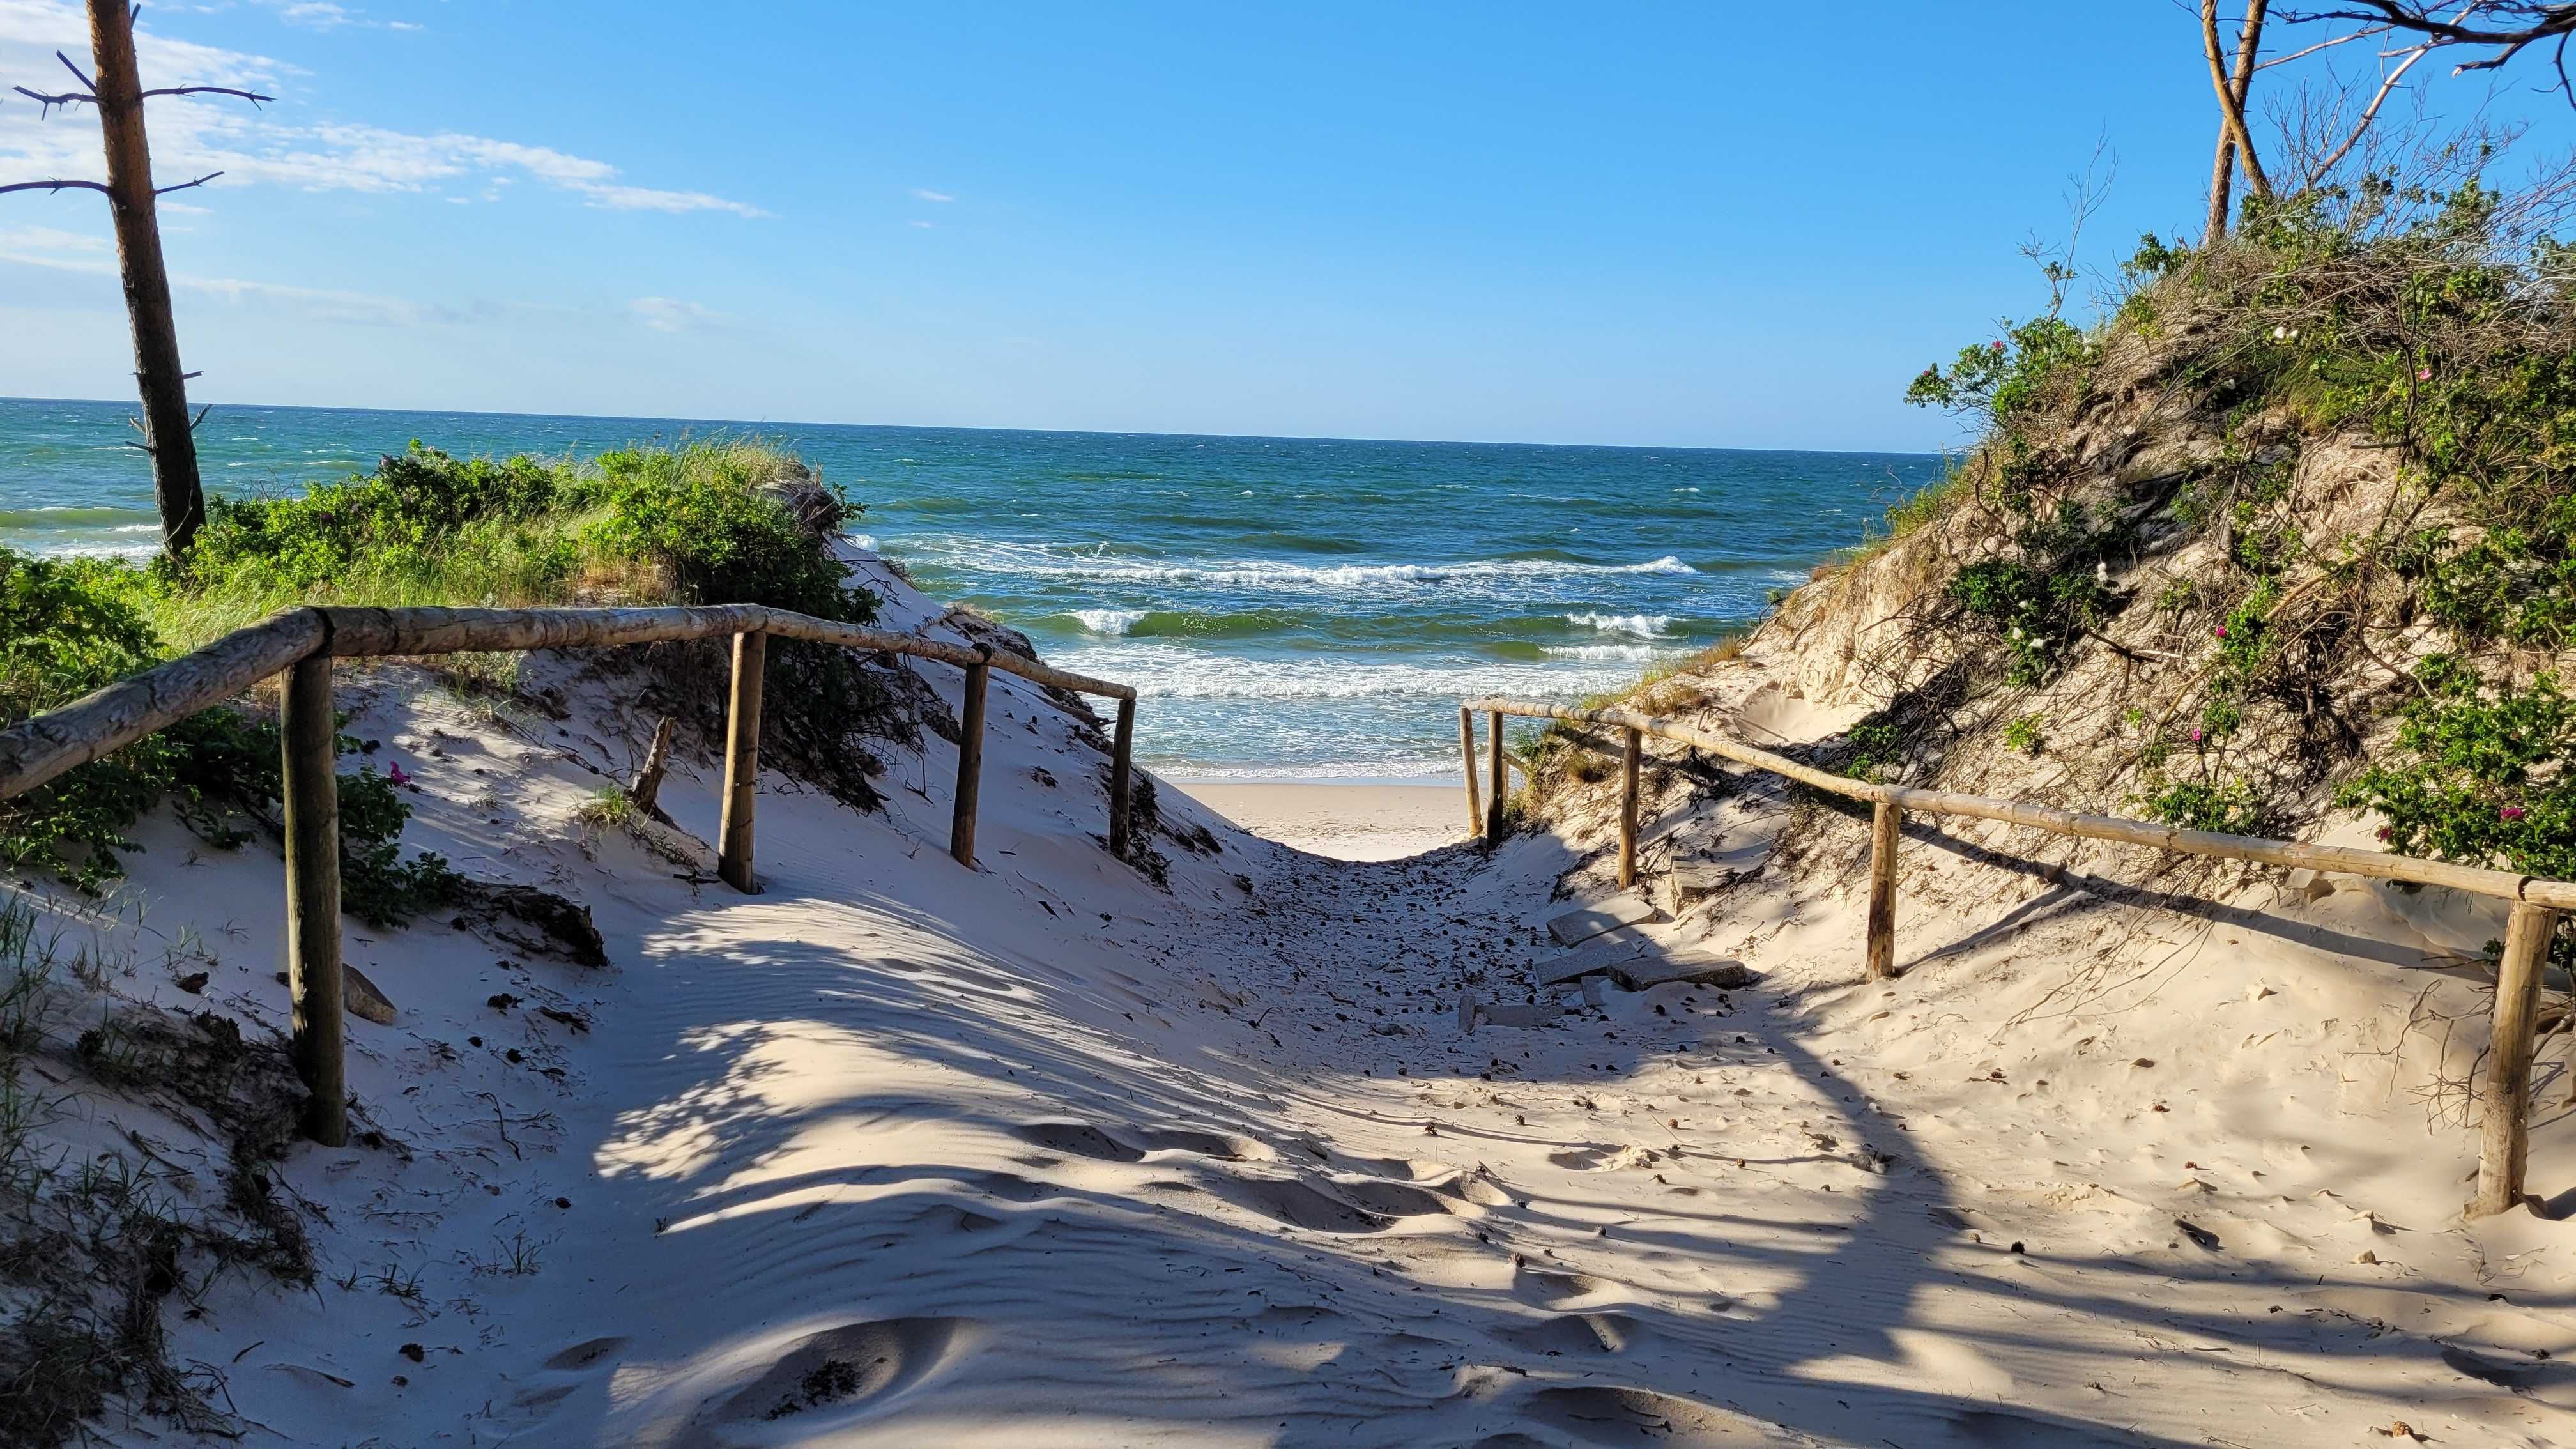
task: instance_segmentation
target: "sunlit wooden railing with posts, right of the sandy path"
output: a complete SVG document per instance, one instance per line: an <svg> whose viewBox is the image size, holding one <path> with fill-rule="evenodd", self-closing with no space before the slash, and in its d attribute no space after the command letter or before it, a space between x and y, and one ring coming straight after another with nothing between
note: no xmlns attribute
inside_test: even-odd
<svg viewBox="0 0 2576 1449"><path fill-rule="evenodd" d="M1484 804L1476 799L1476 714L1486 714L1489 779ZM1620 761L1620 822L1618 822L1618 882L1636 884L1636 807L1638 758L1643 737L1674 740L1713 755L1793 779L1808 789L1860 799L1873 807L1870 817L1870 920L1862 972L1870 980L1896 975L1896 846L1904 815L1965 815L1973 820L2002 820L2030 825L2053 835L2079 835L2087 841L2120 841L2184 856L2210 856L2221 861L2257 861L2267 866L2306 866L2316 871L2342 871L2372 879L2414 884L2439 884L2473 895L2491 895L2512 902L2504 931L2504 962L2496 972L2496 1024L2488 1047L2486 1080L2478 1085L2483 1140L2478 1155L2478 1196L2468 1204L2473 1217L2504 1212L2522 1201L2522 1171L2530 1152L2524 1116L2532 1093L2532 1026L2540 1008L2540 969L2548 964L2550 933L2558 915L2576 910L2576 884L2491 871L2452 861L2419 861L2383 851L2354 851L2349 846L2303 846L2298 841L2267 841L2262 835L2223 835L2218 830L2182 830L2120 815L2079 815L2050 804L2025 804L1991 799L1984 794L1953 794L1947 789L1911 789L1901 784L1870 784L1850 776L1819 771L1788 755L1775 755L1744 740L1695 730L1656 714L1631 709L1569 709L1561 704L1533 704L1525 699L1471 699L1458 706L1458 745L1466 755L1466 812L1481 822L1489 843L1502 841L1504 753L1502 719L1569 719L1582 724L1607 724L1625 735ZM1481 817L1481 820L1479 820Z"/></svg>

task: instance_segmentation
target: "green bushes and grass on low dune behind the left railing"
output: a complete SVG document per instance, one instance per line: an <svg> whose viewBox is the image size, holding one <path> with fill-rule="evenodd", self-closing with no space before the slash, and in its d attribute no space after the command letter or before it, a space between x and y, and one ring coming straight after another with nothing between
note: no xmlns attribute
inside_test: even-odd
<svg viewBox="0 0 2576 1449"><path fill-rule="evenodd" d="M623 449L592 464L453 459L415 441L371 474L304 495L214 500L183 565L0 549L0 724L296 603L770 603L866 624L876 598L850 588L824 547L855 511L752 441ZM677 694L703 691L714 668L688 650L662 663L688 676ZM507 686L515 665L464 660L461 676ZM881 712L884 688L842 650L783 642L770 670L778 755L873 804L873 761L850 727ZM355 737L340 748L368 750ZM0 861L98 892L124 874L134 822L162 802L219 848L276 835L276 722L211 709L0 802ZM461 887L438 856L402 856L404 820L389 773L340 776L343 902L379 926L451 905Z"/></svg>

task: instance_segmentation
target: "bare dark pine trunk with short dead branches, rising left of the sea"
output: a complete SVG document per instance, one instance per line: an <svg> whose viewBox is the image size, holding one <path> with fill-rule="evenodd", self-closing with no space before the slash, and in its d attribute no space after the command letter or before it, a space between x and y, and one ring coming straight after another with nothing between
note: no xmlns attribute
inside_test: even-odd
<svg viewBox="0 0 2576 1449"><path fill-rule="evenodd" d="M139 10L139 8L137 8ZM170 317L170 273L160 255L157 199L191 186L206 186L216 173L178 186L152 186L152 144L144 139L144 101L155 95L237 95L252 106L273 101L229 85L170 85L144 90L134 64L134 15L126 0L90 0L90 57L98 75L82 75L72 57L54 52L54 59L72 72L80 90L41 93L18 85L44 113L54 106L98 111L98 129L106 139L106 180L18 180L5 191L98 191L108 199L116 222L116 268L126 289L126 320L134 325L134 384L142 392L144 454L152 456L152 492L162 516L162 547L170 557L188 552L198 526L206 521L206 490L196 472L196 425L206 418L188 415L188 374L178 361L178 322Z"/></svg>

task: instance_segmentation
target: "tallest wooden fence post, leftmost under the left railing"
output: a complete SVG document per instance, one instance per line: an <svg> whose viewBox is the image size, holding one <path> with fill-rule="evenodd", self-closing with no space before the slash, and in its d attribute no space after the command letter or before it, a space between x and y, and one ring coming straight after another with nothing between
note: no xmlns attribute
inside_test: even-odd
<svg viewBox="0 0 2576 1449"><path fill-rule="evenodd" d="M286 670L281 719L286 768L286 993L304 1134L348 1145L348 1060L340 995L340 719L330 699L330 655Z"/></svg>

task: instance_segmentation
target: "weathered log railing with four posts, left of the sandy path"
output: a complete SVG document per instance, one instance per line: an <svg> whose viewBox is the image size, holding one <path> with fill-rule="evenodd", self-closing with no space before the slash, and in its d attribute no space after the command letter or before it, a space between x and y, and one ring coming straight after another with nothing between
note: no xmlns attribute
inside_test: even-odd
<svg viewBox="0 0 2576 1449"><path fill-rule="evenodd" d="M760 670L770 634L871 655L909 655L966 670L956 815L948 853L974 866L976 781L984 766L984 686L992 670L1118 701L1110 750L1110 853L1128 846L1128 776L1136 750L1136 691L984 645L860 629L786 608L291 608L116 681L49 714L0 730L0 799L108 755L201 709L283 673L286 771L286 969L294 998L294 1060L312 1093L304 1132L332 1147L348 1140L340 993L340 776L332 660L459 652L608 650L732 637L734 676L724 727L724 812L716 874L739 892L752 879L752 804L760 789Z"/></svg>

